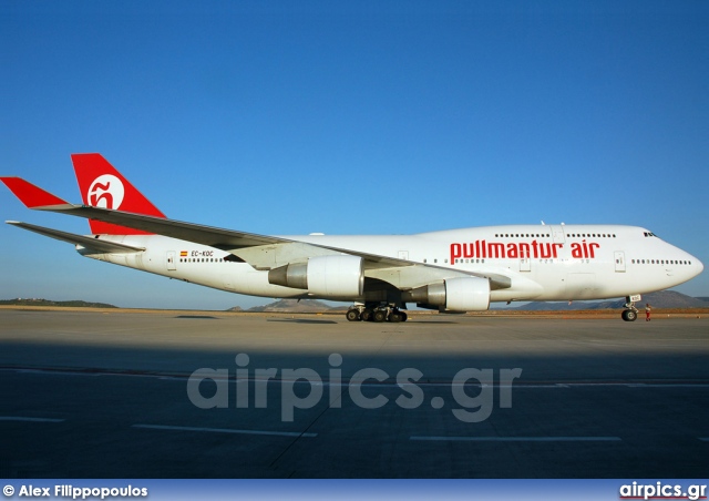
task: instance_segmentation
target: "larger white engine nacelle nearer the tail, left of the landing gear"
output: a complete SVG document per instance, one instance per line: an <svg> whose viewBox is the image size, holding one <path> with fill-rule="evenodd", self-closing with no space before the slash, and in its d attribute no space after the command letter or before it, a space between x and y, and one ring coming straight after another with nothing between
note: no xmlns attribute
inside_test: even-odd
<svg viewBox="0 0 709 501"><path fill-rule="evenodd" d="M291 263L268 272L268 283L307 289L318 297L357 298L364 290L364 272L359 256L317 256L307 263Z"/></svg>

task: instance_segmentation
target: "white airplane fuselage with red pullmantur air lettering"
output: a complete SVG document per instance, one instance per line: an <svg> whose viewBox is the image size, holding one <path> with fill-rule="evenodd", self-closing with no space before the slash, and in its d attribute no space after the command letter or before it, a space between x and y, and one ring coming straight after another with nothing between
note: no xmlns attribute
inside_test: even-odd
<svg viewBox="0 0 709 501"><path fill-rule="evenodd" d="M160 235L102 238L145 250L88 257L232 293L314 297L302 289L271 285L267 270L225 260L229 253L214 247ZM492 290L492 301L602 299L646 294L687 282L703 269L696 257L635 226L514 225L417 235L285 238L510 277L511 287ZM78 249L81 253L81 247ZM425 283L422 275L420 285Z"/></svg>

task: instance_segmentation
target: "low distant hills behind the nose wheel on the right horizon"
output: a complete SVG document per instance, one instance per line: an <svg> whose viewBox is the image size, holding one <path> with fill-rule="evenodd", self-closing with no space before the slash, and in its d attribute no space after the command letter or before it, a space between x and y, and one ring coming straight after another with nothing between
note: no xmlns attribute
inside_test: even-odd
<svg viewBox="0 0 709 501"><path fill-rule="evenodd" d="M649 303L655 308L706 308L709 306L709 301L702 298L687 296L686 294L677 293L675 290L660 290L659 293L644 294L643 300L636 304L645 306ZM577 309L620 309L625 305L625 299L605 300L605 301L574 301L571 305L568 303L557 301L533 301L526 305L517 306L515 308L521 311L556 311L556 310L577 310Z"/></svg>

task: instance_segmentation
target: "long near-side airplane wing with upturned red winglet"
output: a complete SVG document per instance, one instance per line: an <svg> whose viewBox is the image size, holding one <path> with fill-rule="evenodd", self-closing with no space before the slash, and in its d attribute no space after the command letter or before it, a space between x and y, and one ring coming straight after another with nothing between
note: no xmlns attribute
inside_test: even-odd
<svg viewBox="0 0 709 501"><path fill-rule="evenodd" d="M20 177L2 177L1 180L29 208L112 223L208 245L234 254L242 262L248 263L256 269L266 270L288 263L305 262L312 256L350 254L362 257L367 276L383 279L401 288L417 287L425 283L459 276L490 278L492 288L511 286L510 277L504 275L481 275L353 249L217 228L123 211L70 204Z"/></svg>

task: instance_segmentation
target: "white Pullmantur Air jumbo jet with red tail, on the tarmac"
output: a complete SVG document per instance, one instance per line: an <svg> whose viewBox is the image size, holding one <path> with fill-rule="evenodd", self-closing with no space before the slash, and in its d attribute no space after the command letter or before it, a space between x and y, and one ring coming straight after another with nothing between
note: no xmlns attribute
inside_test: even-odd
<svg viewBox="0 0 709 501"><path fill-rule="evenodd" d="M29 208L85 217L91 235L9 221L93 259L251 296L352 301L352 321L404 321L407 303L443 313L491 301L625 297L699 275L703 265L653 232L620 225L485 226L417 235L267 236L168 219L100 154L72 155L74 205L0 177Z"/></svg>

